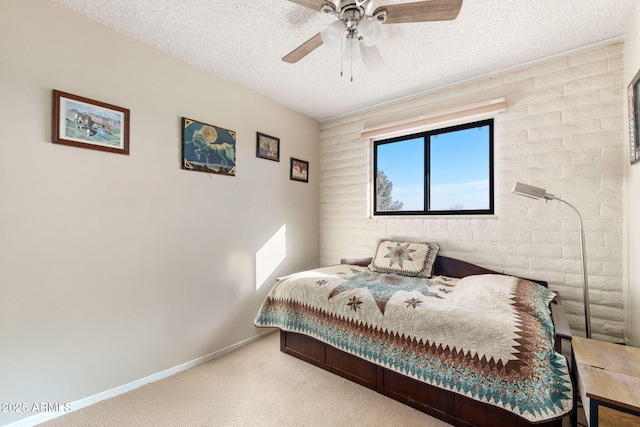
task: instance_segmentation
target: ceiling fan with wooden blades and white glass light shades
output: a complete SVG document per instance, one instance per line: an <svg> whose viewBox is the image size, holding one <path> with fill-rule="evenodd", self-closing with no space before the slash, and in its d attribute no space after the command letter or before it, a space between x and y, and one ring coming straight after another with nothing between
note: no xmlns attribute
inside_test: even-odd
<svg viewBox="0 0 640 427"><path fill-rule="evenodd" d="M413 3L379 6L373 9L371 0L289 0L310 9L334 15L337 20L295 48L282 60L296 63L322 44L344 45L343 59L362 59L365 66L376 71L382 57L376 43L382 37L383 24L448 21L455 19L462 0L424 0Z"/></svg>

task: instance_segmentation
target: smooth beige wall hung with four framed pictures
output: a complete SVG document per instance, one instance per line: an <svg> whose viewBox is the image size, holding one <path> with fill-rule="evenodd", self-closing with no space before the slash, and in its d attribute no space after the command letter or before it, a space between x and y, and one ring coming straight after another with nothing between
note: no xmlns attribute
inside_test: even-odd
<svg viewBox="0 0 640 427"><path fill-rule="evenodd" d="M52 89L129 108L130 155L52 144ZM255 338L273 279L318 264L313 119L47 0L0 0L0 107L0 402L30 405L0 425ZM181 170L183 116L237 132L235 177Z"/></svg>

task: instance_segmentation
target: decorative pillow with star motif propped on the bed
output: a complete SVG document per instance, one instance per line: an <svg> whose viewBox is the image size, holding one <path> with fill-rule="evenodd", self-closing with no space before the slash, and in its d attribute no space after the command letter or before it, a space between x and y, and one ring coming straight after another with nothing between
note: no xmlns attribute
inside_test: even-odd
<svg viewBox="0 0 640 427"><path fill-rule="evenodd" d="M439 249L437 244L431 242L380 239L369 269L377 273L431 277Z"/></svg>

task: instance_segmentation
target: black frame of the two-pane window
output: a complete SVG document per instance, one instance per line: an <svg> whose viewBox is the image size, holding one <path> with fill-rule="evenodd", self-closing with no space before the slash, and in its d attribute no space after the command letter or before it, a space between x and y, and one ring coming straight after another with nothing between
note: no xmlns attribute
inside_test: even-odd
<svg viewBox="0 0 640 427"><path fill-rule="evenodd" d="M473 129L483 126L489 126L489 208L488 209L463 209L463 210L430 210L430 175L431 175L431 159L430 159L430 138L434 135L452 133L461 130ZM394 142L400 142L410 139L423 138L424 141L424 210L400 210L400 211L380 211L377 206L377 171L378 171L378 146ZM381 216L472 216L472 215L494 215L495 214L495 189L494 189L494 140L495 140L495 120L493 118L466 122L447 127L438 127L425 131L420 131L407 135L400 135L393 138L385 138L373 141L373 206L372 212L374 217Z"/></svg>

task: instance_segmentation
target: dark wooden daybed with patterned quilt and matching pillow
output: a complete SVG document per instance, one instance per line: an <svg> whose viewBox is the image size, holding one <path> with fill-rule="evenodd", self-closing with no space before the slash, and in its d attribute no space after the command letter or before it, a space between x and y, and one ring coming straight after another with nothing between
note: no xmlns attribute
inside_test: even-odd
<svg viewBox="0 0 640 427"><path fill-rule="evenodd" d="M562 426L575 398L557 295L437 249L381 239L373 258L280 278L255 324L280 329L281 351L453 425Z"/></svg>

